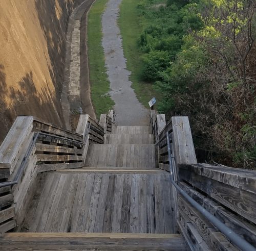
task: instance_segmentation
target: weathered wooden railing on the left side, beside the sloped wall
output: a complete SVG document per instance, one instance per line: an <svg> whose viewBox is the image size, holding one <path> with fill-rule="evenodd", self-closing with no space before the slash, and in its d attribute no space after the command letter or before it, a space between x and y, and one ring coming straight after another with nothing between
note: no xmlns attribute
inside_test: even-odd
<svg viewBox="0 0 256 251"><path fill-rule="evenodd" d="M24 219L38 172L82 167L89 144L103 144L104 134L105 128L84 114L76 133L34 117L17 117L0 146L0 233Z"/></svg>

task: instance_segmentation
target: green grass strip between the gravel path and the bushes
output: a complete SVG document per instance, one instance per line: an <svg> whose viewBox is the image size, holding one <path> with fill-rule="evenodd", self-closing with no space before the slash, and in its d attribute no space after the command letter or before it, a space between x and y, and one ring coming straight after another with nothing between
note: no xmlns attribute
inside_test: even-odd
<svg viewBox="0 0 256 251"><path fill-rule="evenodd" d="M138 49L137 41L144 28L148 25L148 22L145 18L138 15L137 6L143 2L144 0L123 0L120 5L118 24L123 40L123 53L127 60L127 69L132 72L130 76L130 81L133 83L132 88L139 102L146 108L149 108L148 102L150 99L155 96L157 101L160 101L161 94L156 92L152 83L141 81L142 53ZM157 104L158 102L154 106L156 110Z"/></svg>

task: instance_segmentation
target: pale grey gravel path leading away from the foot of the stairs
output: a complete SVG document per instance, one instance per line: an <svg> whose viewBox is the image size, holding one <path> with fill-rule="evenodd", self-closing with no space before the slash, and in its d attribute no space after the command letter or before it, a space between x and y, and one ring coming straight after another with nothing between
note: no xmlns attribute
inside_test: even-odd
<svg viewBox="0 0 256 251"><path fill-rule="evenodd" d="M115 123L117 125L148 125L149 110L138 102L129 81L130 71L126 70L126 59L123 56L122 38L117 26L119 5L122 0L110 0L102 15L102 46L105 54L105 65L108 69L111 98L116 103Z"/></svg>

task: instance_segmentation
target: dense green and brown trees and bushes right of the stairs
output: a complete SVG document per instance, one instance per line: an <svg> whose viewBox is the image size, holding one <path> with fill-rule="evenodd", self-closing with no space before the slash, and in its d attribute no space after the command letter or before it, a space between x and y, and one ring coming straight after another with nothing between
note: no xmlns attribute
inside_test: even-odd
<svg viewBox="0 0 256 251"><path fill-rule="evenodd" d="M153 17L139 46L159 112L189 116L201 161L256 168L256 2L168 0Z"/></svg>

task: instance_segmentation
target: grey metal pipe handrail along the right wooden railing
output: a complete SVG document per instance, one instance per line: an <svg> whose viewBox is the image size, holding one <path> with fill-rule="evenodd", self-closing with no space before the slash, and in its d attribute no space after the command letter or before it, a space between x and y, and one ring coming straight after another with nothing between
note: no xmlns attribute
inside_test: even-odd
<svg viewBox="0 0 256 251"><path fill-rule="evenodd" d="M220 230L222 234L224 234L228 240L239 247L242 251L256 251L250 243L241 238L238 234L233 232L230 228L228 228L224 223L222 223L218 218L214 215L210 214L206 211L200 204L196 202L193 198L191 198L188 194L186 194L174 181L174 172L173 172L173 163L172 163L172 154L170 153L170 141L169 134L166 133L167 145L168 145L168 159L169 159L169 167L170 167L170 182L175 186L175 188L180 192L180 194L192 205L194 206L207 220L209 220L212 224L215 225L217 229Z"/></svg>

